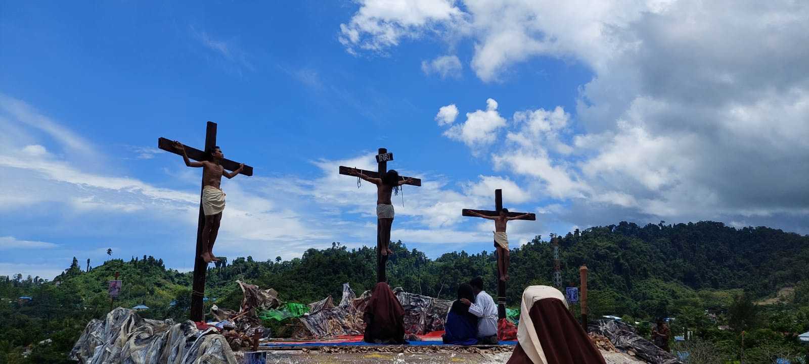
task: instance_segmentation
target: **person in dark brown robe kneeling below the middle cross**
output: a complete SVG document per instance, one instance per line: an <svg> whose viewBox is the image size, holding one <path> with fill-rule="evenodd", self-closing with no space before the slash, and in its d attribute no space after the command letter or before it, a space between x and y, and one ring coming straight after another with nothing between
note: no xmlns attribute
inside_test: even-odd
<svg viewBox="0 0 809 364"><path fill-rule="evenodd" d="M406 344L404 308L388 283L376 283L362 320L366 324L362 341L372 344Z"/></svg>

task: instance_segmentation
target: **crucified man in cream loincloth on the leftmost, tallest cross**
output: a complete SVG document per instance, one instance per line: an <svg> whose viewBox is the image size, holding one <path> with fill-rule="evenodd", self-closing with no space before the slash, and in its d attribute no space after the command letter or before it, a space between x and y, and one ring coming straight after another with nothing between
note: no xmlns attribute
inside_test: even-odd
<svg viewBox="0 0 809 364"><path fill-rule="evenodd" d="M179 141L174 142L174 148L183 153L183 161L189 167L202 167L202 211L205 213L205 227L202 228L202 236L206 241L205 249L200 257L206 262L219 261L214 257L214 242L219 233L219 223L222 221L222 210L225 209L225 193L219 188L222 184L222 176L228 179L234 178L236 174L244 169L244 164L231 173L225 172L220 162L225 157L222 149L214 147L206 150L208 161L191 161L185 154L185 147Z"/></svg>

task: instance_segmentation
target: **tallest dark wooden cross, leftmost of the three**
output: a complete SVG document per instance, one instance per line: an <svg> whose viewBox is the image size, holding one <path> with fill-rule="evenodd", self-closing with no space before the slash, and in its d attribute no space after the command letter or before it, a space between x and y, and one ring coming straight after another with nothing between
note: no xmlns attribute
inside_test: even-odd
<svg viewBox="0 0 809 364"><path fill-rule="evenodd" d="M188 145L183 145L185 147L185 153L188 155L188 159L193 159L194 161L207 161L208 153L205 151L213 149L214 146L216 146L216 123L209 121L207 128L205 128L204 150L193 149ZM166 138L158 138L157 147L165 150L166 152L175 153L180 156L183 155L182 152L174 148L174 142ZM229 159L222 159L220 164L222 164L224 169L231 171L239 169L239 162L231 161ZM245 176L252 176L252 167L249 165L244 165L244 169L242 169L241 174L244 174ZM205 188L204 179L202 180L201 189L202 188ZM191 291L191 320L194 321L201 321L205 318L205 313L202 312L202 300L205 297L205 273L208 271L208 263L206 263L201 257L202 253L205 252L205 239L202 238L202 228L205 226L205 213L202 211L201 189L200 216L199 221L197 222L197 252L194 253L194 281Z"/></svg>

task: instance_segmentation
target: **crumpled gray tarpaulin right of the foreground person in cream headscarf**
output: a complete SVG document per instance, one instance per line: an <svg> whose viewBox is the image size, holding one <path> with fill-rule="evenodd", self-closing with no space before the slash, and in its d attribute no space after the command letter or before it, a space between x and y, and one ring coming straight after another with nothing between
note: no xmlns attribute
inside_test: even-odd
<svg viewBox="0 0 809 364"><path fill-rule="evenodd" d="M660 349L635 333L635 328L616 320L595 320L587 324L587 331L607 337L621 350L632 350L638 358L650 364L683 364L677 357Z"/></svg>

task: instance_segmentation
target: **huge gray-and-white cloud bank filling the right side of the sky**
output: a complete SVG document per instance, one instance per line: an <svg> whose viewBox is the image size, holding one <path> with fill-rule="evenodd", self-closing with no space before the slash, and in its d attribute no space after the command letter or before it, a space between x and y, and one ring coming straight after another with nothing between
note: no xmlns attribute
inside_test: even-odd
<svg viewBox="0 0 809 364"><path fill-rule="evenodd" d="M574 115L516 112L492 158L499 171L538 178L569 202L571 223L621 215L809 231L809 48L794 46L809 43L809 4L468 0L459 8L464 22L447 22L443 36L472 40L471 67L485 82L539 56L594 73ZM474 140L453 128L445 135ZM489 137L478 145L497 136L480 134Z"/></svg>

